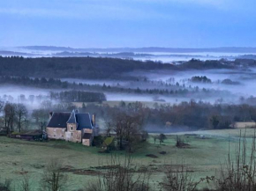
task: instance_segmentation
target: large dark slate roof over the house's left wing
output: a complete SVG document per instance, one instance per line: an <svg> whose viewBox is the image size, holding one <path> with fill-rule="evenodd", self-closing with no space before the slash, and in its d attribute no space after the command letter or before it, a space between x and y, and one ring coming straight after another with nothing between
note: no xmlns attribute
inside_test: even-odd
<svg viewBox="0 0 256 191"><path fill-rule="evenodd" d="M53 113L47 125L48 128L67 128L70 112Z"/></svg>

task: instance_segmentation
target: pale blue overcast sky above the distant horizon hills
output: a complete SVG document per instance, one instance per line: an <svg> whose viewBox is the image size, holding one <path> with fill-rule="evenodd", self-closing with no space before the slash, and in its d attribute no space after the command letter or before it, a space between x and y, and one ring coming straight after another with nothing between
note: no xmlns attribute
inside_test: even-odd
<svg viewBox="0 0 256 191"><path fill-rule="evenodd" d="M0 46L256 47L256 0L1 0Z"/></svg>

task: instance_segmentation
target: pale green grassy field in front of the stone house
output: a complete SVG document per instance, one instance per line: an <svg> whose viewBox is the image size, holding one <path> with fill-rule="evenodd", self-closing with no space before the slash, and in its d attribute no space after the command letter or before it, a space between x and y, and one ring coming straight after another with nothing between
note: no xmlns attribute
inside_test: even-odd
<svg viewBox="0 0 256 191"><path fill-rule="evenodd" d="M250 145L254 129L246 131L248 145ZM175 146L176 134L168 135L162 144L158 141L154 144L154 138L150 136L147 143L142 143L140 148L132 154L133 164L150 165L152 183L155 184L162 180L166 165L179 165L182 161L193 172L195 179L215 175L216 169L227 158L229 143L231 152L234 151L239 129L193 133L197 135L178 134L185 143L189 144L183 149ZM202 133L204 136L201 136ZM99 148L84 147L79 143L28 142L0 136L0 177L2 180L11 178L18 181L21 179L21 173L26 171L36 187L41 179L43 167L50 159L59 158L70 170L67 173L70 177L70 190L79 189L97 177L95 166L108 165L111 154L102 154L98 151ZM166 151L166 154L160 154L161 151ZM148 154L154 154L158 158L146 157ZM117 151L117 155L124 158L124 151ZM201 184L201 187L207 187L207 184Z"/></svg>

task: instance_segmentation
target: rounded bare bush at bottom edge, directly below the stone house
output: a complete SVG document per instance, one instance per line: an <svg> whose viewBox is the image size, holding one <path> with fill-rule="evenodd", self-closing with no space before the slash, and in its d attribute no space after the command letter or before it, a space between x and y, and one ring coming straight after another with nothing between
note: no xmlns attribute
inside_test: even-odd
<svg viewBox="0 0 256 191"><path fill-rule="evenodd" d="M58 159L51 159L45 167L42 179L41 190L63 191L67 186L67 175L62 171L63 165Z"/></svg>

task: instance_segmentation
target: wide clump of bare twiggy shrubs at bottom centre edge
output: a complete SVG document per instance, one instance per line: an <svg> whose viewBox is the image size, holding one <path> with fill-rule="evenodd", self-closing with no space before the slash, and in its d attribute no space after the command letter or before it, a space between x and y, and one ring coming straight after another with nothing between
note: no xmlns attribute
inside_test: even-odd
<svg viewBox="0 0 256 191"><path fill-rule="evenodd" d="M150 173L147 169L139 171L138 166L132 166L131 155L126 155L124 160L111 157L106 171L98 179L90 182L86 191L150 191Z"/></svg>

